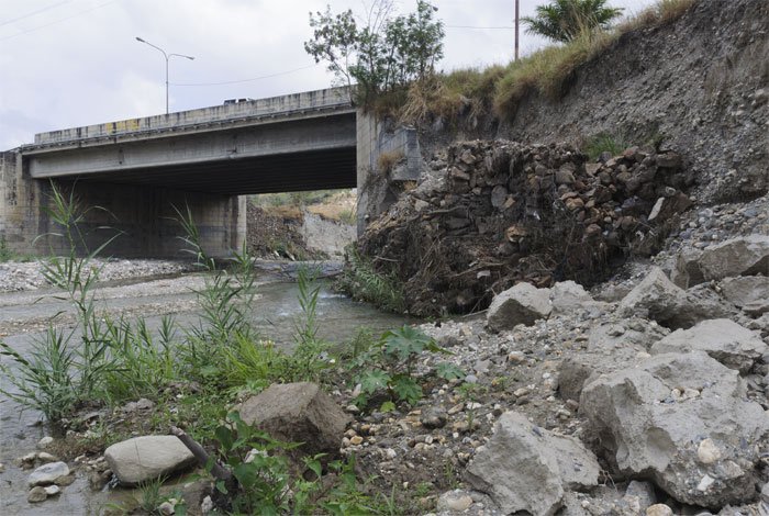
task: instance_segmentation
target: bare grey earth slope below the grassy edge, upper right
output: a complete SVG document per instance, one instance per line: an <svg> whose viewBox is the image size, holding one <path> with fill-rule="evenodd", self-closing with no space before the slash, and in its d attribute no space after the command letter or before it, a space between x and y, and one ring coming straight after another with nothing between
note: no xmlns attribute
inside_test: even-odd
<svg viewBox="0 0 769 516"><path fill-rule="evenodd" d="M769 2L700 0L671 24L624 34L560 101L530 93L497 136L655 141L688 158L700 202L738 201L769 189L768 100Z"/></svg>

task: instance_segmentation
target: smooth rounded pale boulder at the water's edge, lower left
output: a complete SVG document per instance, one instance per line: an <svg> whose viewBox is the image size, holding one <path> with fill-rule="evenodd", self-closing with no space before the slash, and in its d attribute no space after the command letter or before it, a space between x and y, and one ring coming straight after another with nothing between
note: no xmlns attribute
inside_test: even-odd
<svg viewBox="0 0 769 516"><path fill-rule="evenodd" d="M159 479L196 462L176 436L134 437L107 448L104 459L123 485Z"/></svg>

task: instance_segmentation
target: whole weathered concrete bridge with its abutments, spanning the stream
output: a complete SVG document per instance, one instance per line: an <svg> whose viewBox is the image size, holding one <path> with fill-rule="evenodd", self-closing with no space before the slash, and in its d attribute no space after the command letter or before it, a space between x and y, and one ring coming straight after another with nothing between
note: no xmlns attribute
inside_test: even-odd
<svg viewBox="0 0 769 516"><path fill-rule="evenodd" d="M54 182L100 207L81 223L87 247L121 232L110 255L178 256L175 206L189 206L223 256L245 238L245 194L358 187L363 216L381 203L363 188L381 153L403 157L398 179L419 175L414 132L383 131L347 88L42 133L0 153L0 237L19 253L63 250L48 236Z"/></svg>

